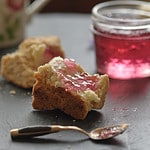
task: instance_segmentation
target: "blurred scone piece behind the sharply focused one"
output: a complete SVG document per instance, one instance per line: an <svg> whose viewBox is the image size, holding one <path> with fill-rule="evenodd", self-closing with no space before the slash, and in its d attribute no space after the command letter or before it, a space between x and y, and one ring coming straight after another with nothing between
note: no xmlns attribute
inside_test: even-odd
<svg viewBox="0 0 150 150"><path fill-rule="evenodd" d="M32 88L34 71L56 56L64 57L60 39L57 36L32 37L25 39L18 50L1 59L2 76L23 88Z"/></svg>

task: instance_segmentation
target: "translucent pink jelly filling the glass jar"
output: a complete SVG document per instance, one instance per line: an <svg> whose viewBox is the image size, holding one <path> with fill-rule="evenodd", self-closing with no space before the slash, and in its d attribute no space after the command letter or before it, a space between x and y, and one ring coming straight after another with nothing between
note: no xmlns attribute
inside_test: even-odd
<svg viewBox="0 0 150 150"><path fill-rule="evenodd" d="M150 39L142 36L95 34L98 72L120 79L150 76Z"/></svg>

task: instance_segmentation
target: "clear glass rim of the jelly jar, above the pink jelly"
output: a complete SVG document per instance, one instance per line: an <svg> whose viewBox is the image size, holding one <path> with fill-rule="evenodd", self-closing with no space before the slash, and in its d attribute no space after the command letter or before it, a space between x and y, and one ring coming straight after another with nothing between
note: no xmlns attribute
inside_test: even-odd
<svg viewBox="0 0 150 150"><path fill-rule="evenodd" d="M92 21L97 28L116 30L149 30L150 2L137 0L108 1L92 9Z"/></svg>

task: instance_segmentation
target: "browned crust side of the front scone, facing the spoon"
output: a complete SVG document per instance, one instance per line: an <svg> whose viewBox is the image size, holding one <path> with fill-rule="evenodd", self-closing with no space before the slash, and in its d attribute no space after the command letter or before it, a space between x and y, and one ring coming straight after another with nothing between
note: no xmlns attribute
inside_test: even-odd
<svg viewBox="0 0 150 150"><path fill-rule="evenodd" d="M34 95L32 101L34 109L60 109L76 119L84 119L88 113L87 103L80 96L72 95L63 88L36 84L32 94Z"/></svg>

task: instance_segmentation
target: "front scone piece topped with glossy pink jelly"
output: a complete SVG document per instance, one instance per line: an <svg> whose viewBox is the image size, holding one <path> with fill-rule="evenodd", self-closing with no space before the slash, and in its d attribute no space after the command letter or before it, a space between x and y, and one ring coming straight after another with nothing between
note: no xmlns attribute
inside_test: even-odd
<svg viewBox="0 0 150 150"><path fill-rule="evenodd" d="M60 109L75 119L84 119L91 109L101 109L109 87L107 75L89 75L68 58L53 58L34 76L33 108Z"/></svg>

